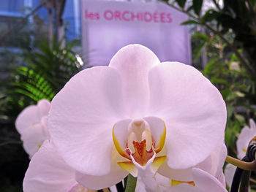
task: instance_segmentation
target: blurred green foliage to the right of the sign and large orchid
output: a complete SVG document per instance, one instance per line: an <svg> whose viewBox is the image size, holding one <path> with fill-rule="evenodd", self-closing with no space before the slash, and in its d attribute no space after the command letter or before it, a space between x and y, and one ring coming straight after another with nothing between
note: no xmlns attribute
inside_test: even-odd
<svg viewBox="0 0 256 192"><path fill-rule="evenodd" d="M222 93L227 105L225 142L228 154L236 157L241 128L249 118L256 120L256 1L165 3L189 15L182 24L192 30L193 64ZM253 180L250 184L255 191Z"/></svg>

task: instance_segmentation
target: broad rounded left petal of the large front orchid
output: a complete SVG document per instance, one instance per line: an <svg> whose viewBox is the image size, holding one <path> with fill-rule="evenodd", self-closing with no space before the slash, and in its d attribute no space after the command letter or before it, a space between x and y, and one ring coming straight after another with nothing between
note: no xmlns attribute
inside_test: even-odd
<svg viewBox="0 0 256 192"><path fill-rule="evenodd" d="M64 160L83 174L110 172L112 128L125 119L116 69L84 69L53 98L49 131Z"/></svg>

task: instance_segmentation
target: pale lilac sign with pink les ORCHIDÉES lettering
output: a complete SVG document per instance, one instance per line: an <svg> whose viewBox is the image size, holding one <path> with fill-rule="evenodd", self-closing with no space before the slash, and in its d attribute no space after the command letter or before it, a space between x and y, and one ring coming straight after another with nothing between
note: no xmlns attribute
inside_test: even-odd
<svg viewBox="0 0 256 192"><path fill-rule="evenodd" d="M125 45L138 43L160 61L191 64L187 15L163 3L81 1L83 54L90 66L108 65Z"/></svg>

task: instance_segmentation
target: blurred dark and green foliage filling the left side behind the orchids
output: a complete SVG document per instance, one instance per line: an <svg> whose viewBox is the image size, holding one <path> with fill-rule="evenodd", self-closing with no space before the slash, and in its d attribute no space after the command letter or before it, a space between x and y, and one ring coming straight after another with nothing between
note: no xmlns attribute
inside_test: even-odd
<svg viewBox="0 0 256 192"><path fill-rule="evenodd" d="M36 17L37 18L37 17ZM36 19L35 18L35 19ZM39 19L39 18L38 18ZM34 28L26 23L24 34L10 35L0 50L0 191L22 191L29 156L23 150L15 118L25 107L40 99L53 99L83 66L75 47L78 40L51 44L41 34L43 23ZM40 30L41 32L40 32ZM39 30L39 33L36 31ZM2 31L3 32L3 31ZM11 42L11 43L9 43ZM15 48L13 48L15 47Z"/></svg>

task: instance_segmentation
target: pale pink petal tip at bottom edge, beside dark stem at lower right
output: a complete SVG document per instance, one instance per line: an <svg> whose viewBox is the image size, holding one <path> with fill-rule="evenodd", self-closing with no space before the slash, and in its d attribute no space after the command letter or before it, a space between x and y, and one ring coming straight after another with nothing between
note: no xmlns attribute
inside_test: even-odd
<svg viewBox="0 0 256 192"><path fill-rule="evenodd" d="M225 186L217 178L204 172L202 169L193 168L192 175L196 188L202 192L227 192Z"/></svg>

